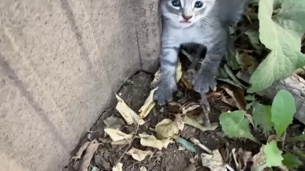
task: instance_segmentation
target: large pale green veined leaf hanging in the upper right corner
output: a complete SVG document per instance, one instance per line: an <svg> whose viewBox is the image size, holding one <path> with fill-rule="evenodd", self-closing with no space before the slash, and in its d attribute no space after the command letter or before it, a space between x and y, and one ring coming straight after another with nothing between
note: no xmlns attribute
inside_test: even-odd
<svg viewBox="0 0 305 171"><path fill-rule="evenodd" d="M248 92L268 88L305 65L301 37L305 32L305 1L283 0L281 11L272 16L274 0L260 0L258 9L260 41L271 50L251 76Z"/></svg>

